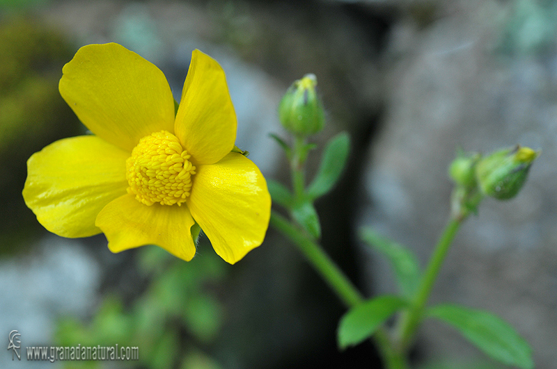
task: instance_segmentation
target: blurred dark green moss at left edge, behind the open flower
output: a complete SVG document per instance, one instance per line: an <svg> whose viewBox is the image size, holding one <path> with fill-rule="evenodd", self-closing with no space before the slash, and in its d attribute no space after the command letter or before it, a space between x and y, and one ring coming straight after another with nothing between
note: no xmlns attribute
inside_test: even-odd
<svg viewBox="0 0 557 369"><path fill-rule="evenodd" d="M61 35L36 19L0 22L0 201L9 209L0 212L0 253L42 229L21 195L29 156L83 130L58 92L72 54Z"/></svg>

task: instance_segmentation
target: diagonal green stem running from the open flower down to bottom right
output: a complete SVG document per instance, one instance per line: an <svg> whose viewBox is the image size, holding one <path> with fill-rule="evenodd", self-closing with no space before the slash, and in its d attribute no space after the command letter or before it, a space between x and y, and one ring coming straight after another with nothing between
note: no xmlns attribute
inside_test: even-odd
<svg viewBox="0 0 557 369"><path fill-rule="evenodd" d="M348 307L354 307L363 302L364 298L359 290L354 287L350 279L338 268L334 261L323 251L317 243L313 242L301 231L295 227L282 215L272 211L270 224L285 234L300 249L306 259L313 265L315 270L321 274L323 279L327 281L332 290L338 295L340 300ZM405 356L393 350L393 345L389 334L384 327L380 327L373 336L375 343L382 354L382 357L389 369L407 369L408 365Z"/></svg>

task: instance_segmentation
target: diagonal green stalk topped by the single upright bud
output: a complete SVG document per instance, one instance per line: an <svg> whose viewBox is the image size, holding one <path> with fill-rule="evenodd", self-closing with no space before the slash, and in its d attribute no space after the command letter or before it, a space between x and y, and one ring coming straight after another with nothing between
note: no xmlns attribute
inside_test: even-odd
<svg viewBox="0 0 557 369"><path fill-rule="evenodd" d="M362 304L366 299L352 284L350 279L346 277L344 272L338 268L338 265L324 252L321 245L316 242L320 236L319 220L317 213L315 213L315 208L313 208L314 197L306 189L306 158L308 152L314 147L314 145L308 144L307 137L322 129L323 120L322 104L316 98L315 84L315 76L312 76L311 79L305 76L304 79L296 81L292 85L283 101L281 101L279 115L281 116L283 126L292 133L292 147L288 147L280 138L274 138L285 149L290 161L292 206L287 206L287 208L290 211L292 220L288 220L283 215L272 211L269 224L278 231L281 231L298 247L300 252L306 257L306 260L311 263L331 290L336 293L339 300L348 309L352 309ZM306 92L299 93L300 90L302 92L305 90ZM311 109L307 108L305 100L302 102L302 97L307 95L311 96L310 100L313 104ZM290 113L290 110L286 110L289 106L292 107L292 111L297 111L297 114L285 114L285 112ZM292 117L295 117L295 119L292 119ZM292 122L295 122L295 124L292 124ZM344 141L340 138L336 145L343 145L342 142ZM347 151L340 155L345 157ZM341 163L342 161L338 162ZM340 169L338 174L340 174ZM315 215L315 218L313 218L313 215ZM373 340L389 369L408 368L405 356L393 350L391 336L384 327L377 329Z"/></svg>

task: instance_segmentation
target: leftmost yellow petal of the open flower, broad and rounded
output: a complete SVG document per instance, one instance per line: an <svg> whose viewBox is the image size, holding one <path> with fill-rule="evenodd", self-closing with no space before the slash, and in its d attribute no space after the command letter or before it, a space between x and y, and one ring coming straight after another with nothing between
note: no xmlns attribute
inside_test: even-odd
<svg viewBox="0 0 557 369"><path fill-rule="evenodd" d="M95 136L56 141L27 161L25 204L58 236L100 233L95 227L97 214L126 193L129 155Z"/></svg>

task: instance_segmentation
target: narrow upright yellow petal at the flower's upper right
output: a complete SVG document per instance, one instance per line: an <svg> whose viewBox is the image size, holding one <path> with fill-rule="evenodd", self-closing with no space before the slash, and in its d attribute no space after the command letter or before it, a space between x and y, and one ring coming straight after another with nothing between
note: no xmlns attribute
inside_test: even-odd
<svg viewBox="0 0 557 369"><path fill-rule="evenodd" d="M196 165L213 164L233 149L236 128L224 71L216 60L194 50L176 114L176 136Z"/></svg>

